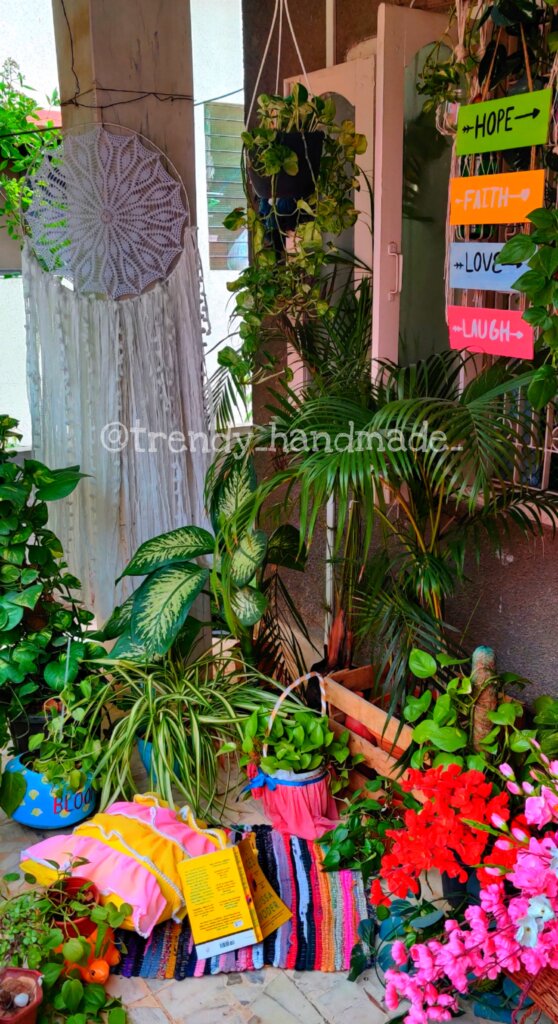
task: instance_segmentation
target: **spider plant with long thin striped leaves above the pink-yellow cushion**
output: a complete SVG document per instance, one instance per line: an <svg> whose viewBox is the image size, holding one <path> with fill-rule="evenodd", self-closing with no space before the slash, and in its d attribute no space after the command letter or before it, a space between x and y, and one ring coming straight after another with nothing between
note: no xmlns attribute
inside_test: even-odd
<svg viewBox="0 0 558 1024"><path fill-rule="evenodd" d="M222 813L229 785L226 777L218 794L218 752L233 750L243 723L253 711L270 709L280 688L273 692L268 680L271 689L262 689L261 676L234 665L230 655L207 653L187 664L171 653L152 664L104 664L110 677L91 708L91 727L108 701L122 717L95 772L103 780L101 808L137 792L132 759L139 737L152 744L152 788L171 807L176 793L195 814L215 818L220 798Z"/></svg>

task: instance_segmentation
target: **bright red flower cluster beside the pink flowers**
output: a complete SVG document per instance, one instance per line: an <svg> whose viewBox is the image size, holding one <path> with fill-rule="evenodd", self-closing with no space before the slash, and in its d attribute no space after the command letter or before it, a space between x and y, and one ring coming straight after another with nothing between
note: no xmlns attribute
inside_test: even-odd
<svg viewBox="0 0 558 1024"><path fill-rule="evenodd" d="M490 837L464 819L490 824L497 814L508 820L507 793L492 796L482 772L459 765L411 770L403 786L421 790L427 800L419 811L406 812L404 828L387 833L392 846L382 858L380 876L388 890L401 898L410 890L417 894L420 874L432 868L466 882L465 865L479 863Z"/></svg>

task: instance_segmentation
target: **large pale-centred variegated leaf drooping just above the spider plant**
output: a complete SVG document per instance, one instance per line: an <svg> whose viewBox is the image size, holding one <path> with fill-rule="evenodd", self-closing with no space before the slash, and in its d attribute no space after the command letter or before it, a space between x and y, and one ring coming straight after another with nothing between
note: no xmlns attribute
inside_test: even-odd
<svg viewBox="0 0 558 1024"><path fill-rule="evenodd" d="M209 569L186 563L164 566L144 580L134 595L132 639L148 654L164 654L208 577Z"/></svg>

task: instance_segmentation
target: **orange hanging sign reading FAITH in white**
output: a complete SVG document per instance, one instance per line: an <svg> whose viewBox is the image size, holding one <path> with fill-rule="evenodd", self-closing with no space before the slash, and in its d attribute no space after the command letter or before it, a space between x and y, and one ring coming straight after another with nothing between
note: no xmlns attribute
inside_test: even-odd
<svg viewBox="0 0 558 1024"><path fill-rule="evenodd" d="M516 224L543 206L544 171L449 179L450 224Z"/></svg>

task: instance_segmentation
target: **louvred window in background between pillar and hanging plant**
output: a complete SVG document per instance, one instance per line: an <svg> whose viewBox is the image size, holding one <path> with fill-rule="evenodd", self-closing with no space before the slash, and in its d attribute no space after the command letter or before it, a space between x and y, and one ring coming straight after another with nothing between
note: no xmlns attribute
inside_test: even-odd
<svg viewBox="0 0 558 1024"><path fill-rule="evenodd" d="M209 265L212 270L242 270L248 264L248 232L229 231L223 220L245 206L241 161L244 130L242 103L205 104L206 174L209 218Z"/></svg>

